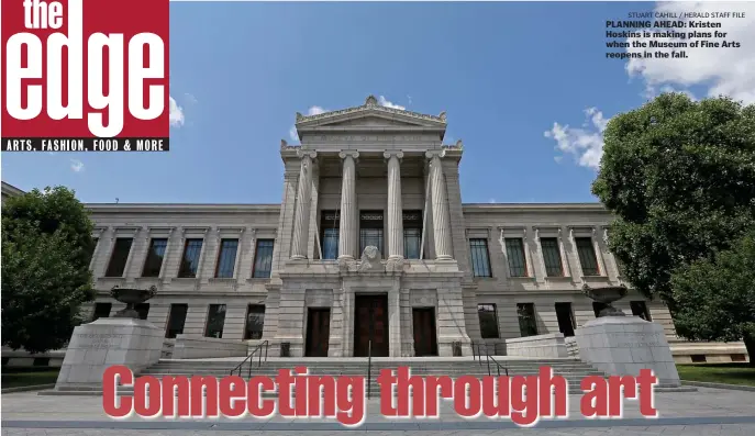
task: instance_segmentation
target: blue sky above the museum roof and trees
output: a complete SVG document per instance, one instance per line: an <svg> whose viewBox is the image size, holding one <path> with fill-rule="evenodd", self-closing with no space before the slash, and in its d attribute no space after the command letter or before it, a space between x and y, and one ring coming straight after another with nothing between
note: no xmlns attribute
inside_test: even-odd
<svg viewBox="0 0 755 436"><path fill-rule="evenodd" d="M663 8L649 2L170 8L170 94L182 116L171 150L3 154L3 181L68 186L86 202L277 203L279 144L291 142L295 113L359 105L371 93L447 112L447 142L465 144L464 202L595 201L610 116L667 89L755 100L752 80L711 66L715 56L753 65L752 48L630 71L607 59L606 20ZM713 70L693 75L692 63Z"/></svg>

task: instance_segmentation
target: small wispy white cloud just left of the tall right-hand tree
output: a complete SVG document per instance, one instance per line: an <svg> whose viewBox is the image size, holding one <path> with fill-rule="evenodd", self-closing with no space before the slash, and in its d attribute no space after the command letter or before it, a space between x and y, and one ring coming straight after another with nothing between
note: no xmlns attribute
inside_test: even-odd
<svg viewBox="0 0 755 436"><path fill-rule="evenodd" d="M562 154L573 155L577 165L598 169L603 155L603 131L608 120L596 108L585 110L584 128L553 123L553 128L545 132L545 137L556 142L556 149ZM563 156L557 156L560 161Z"/></svg>

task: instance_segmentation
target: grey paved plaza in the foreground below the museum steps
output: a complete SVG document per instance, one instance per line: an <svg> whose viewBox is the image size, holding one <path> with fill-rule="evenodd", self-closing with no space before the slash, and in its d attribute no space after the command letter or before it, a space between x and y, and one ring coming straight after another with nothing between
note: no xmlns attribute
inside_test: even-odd
<svg viewBox="0 0 755 436"><path fill-rule="evenodd" d="M569 399L568 420L544 420L535 428L519 428L504 420L465 420L442 402L437 420L388 420L377 400L367 404L363 426L348 429L333 420L142 420L114 421L102 412L100 396L37 395L36 392L2 395L2 436L221 436L275 434L326 436L348 434L390 435L755 435L755 392L700 388L698 392L657 393L657 418L644 418L637 403L626 400L621 420L579 417L579 396Z"/></svg>

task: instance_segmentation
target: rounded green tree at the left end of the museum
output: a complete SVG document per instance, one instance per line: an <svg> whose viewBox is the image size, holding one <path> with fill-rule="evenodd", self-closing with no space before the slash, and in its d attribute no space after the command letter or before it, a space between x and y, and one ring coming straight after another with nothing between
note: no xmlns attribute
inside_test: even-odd
<svg viewBox="0 0 755 436"><path fill-rule="evenodd" d="M2 204L2 344L44 353L70 338L81 303L93 299L93 224L64 188Z"/></svg>

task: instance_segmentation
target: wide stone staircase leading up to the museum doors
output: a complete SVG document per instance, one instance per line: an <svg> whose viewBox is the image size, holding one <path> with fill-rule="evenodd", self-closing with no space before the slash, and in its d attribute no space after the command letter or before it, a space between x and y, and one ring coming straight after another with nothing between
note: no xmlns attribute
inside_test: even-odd
<svg viewBox="0 0 755 436"><path fill-rule="evenodd" d="M474 376L481 378L488 376L536 376L540 367L548 366L553 368L554 374L563 376L569 388L569 393L582 393L579 382L587 376L606 377L601 371L596 370L590 365L574 358L563 359L507 359L496 358L500 362L500 368L493 360L488 361L482 357L481 360L470 358L374 358L369 368L369 392L370 396L377 398L380 388L377 377L381 369L396 370L398 367L408 366L411 368L412 376L451 376L453 379L460 376ZM153 376L163 378L165 376L204 376L221 378L231 374L231 371L238 366L241 359L197 359L197 360L160 360L157 365L142 371L140 376ZM306 366L310 374L327 376L360 376L367 377L368 362L365 358L271 358L263 361L258 366L253 362L252 368L248 361L244 364L242 377L247 379L249 374L275 377L278 370L292 370L295 367ZM237 374L237 372L235 372ZM367 387L366 387L367 389ZM274 395L270 392L268 394Z"/></svg>

